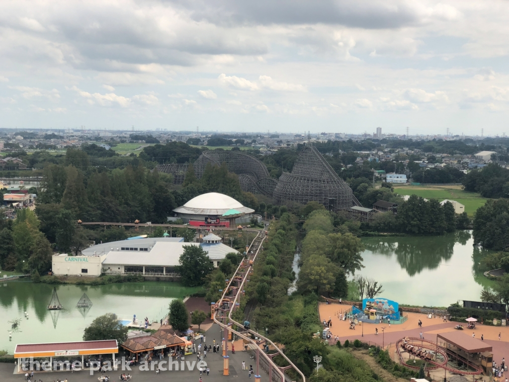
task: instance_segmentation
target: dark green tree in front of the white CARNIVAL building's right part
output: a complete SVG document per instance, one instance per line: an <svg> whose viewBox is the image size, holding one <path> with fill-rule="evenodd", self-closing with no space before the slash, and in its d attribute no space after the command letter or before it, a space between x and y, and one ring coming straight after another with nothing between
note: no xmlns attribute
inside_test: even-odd
<svg viewBox="0 0 509 382"><path fill-rule="evenodd" d="M184 245L177 272L185 286L202 285L203 279L214 268L206 251L199 245Z"/></svg>

